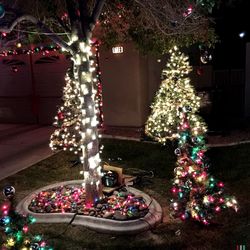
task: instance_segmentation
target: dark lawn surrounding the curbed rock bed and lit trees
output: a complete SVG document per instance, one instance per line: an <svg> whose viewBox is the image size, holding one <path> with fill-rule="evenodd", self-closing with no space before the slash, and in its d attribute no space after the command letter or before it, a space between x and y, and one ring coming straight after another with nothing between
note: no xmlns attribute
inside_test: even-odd
<svg viewBox="0 0 250 250"><path fill-rule="evenodd" d="M212 174L225 182L225 192L237 197L240 210L238 213L225 210L216 218L217 224L205 227L169 217L169 190L176 162L174 145L163 147L108 139L103 140L103 143L105 147L102 158L105 162L123 167L126 173L148 175L142 177L136 187L161 204L163 223L148 232L131 236L100 234L81 226L65 224L32 225L32 232L43 234L55 249L236 249L236 245L247 245L250 242L250 144L212 148L208 151ZM16 199L19 201L45 185L79 179L81 167L70 167L74 159L75 156L60 152L0 181L0 188L7 184L15 186ZM149 177L148 171L153 171L154 178ZM0 198L2 200L3 197Z"/></svg>

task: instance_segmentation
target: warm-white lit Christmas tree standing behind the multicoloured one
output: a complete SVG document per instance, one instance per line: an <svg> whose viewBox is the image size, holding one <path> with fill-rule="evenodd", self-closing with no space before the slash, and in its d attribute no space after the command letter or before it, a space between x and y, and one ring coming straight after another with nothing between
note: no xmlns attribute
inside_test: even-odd
<svg viewBox="0 0 250 250"><path fill-rule="evenodd" d="M145 132L154 140L165 143L167 139L177 136L177 126L180 123L179 107L189 105L190 125L193 134L206 131L205 123L196 112L200 107L200 98L196 96L190 84L188 74L192 70L188 57L175 46L169 51L170 59L162 72L164 80L161 83L149 116Z"/></svg>

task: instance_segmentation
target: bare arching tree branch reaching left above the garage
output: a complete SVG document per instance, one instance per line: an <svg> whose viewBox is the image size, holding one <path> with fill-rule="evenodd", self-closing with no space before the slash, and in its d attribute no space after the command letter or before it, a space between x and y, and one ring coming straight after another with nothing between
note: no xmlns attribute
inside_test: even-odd
<svg viewBox="0 0 250 250"><path fill-rule="evenodd" d="M70 48L70 46L65 41L63 41L60 37L55 35L54 32L52 32L44 23L42 23L41 21L39 21L38 19L36 19L35 17L33 17L31 15L22 15L20 17L17 17L11 23L11 25L9 25L9 27L1 27L0 26L0 32L10 33L15 28L15 26L17 26L19 23L21 23L23 21L29 21L29 22L35 24L42 32L51 33L49 38L53 42L55 42L56 44L58 44L60 47L64 48L65 50L67 50L71 53L73 52L72 49Z"/></svg>

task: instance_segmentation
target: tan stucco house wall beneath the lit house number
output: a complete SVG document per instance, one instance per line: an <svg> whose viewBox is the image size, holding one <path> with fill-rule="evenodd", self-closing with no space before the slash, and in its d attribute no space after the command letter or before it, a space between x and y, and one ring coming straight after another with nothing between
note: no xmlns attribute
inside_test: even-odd
<svg viewBox="0 0 250 250"><path fill-rule="evenodd" d="M104 123L106 126L142 127L150 113L150 105L161 83L166 57L142 55L133 44L125 44L123 53L102 49ZM202 66L203 73L191 74L197 89L212 86L212 67Z"/></svg>

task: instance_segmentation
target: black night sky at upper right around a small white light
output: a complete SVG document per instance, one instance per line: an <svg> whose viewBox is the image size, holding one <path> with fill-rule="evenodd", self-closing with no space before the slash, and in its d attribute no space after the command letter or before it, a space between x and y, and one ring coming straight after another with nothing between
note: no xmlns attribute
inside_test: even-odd
<svg viewBox="0 0 250 250"><path fill-rule="evenodd" d="M213 52L216 69L239 69L245 65L245 46L250 42L250 0L235 1L234 6L222 5L214 11L216 32L220 43ZM245 31L244 38L239 33Z"/></svg>

